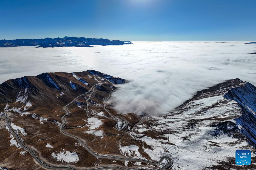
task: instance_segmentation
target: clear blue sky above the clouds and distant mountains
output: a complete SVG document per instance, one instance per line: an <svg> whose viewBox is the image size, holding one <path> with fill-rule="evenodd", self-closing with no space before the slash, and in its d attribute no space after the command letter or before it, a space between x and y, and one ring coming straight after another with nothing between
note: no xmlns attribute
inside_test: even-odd
<svg viewBox="0 0 256 170"><path fill-rule="evenodd" d="M0 1L0 39L255 41L254 0Z"/></svg>

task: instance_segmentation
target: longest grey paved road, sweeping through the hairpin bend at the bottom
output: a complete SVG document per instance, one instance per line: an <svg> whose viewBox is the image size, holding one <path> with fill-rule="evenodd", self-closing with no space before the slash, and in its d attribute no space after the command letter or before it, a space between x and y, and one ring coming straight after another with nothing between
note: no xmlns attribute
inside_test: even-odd
<svg viewBox="0 0 256 170"><path fill-rule="evenodd" d="M93 87L91 87L91 89L87 92L89 93L90 91L94 91L95 87L97 86L101 86L100 84L95 84ZM84 93L84 94L81 94L79 96L77 96L73 101L71 101L69 104L67 104L66 106L63 107L63 109L66 111L66 114L64 116L62 116L62 121L63 123L60 125L59 127L59 130L62 134L64 134L65 136L68 136L68 137L71 137L75 140L77 140L89 153L91 153L92 155L94 155L95 157L97 158L105 158L105 159L113 159L113 160L120 160L120 161L137 161L137 162L144 162L144 163L148 163L148 164L152 164L152 165L157 165L159 163L161 163L164 159L167 159L168 160L168 163L163 166L162 168L160 168L159 170L163 170L163 169L166 169L170 166L172 166L172 160L170 157L168 156L163 156L158 162L151 162L151 161L146 161L146 160L141 160L141 159L135 159L135 158L121 158L121 157L112 157L112 156L102 156L102 155L98 155L96 153L94 153L87 145L85 145L80 139L78 139L77 137L73 136L73 135L70 135L64 131L62 131L62 127L63 125L65 124L65 119L64 117L69 113L69 110L67 109L67 106L70 105L71 103L73 103L78 97L82 96L82 95L85 95L87 93ZM91 93L92 94L92 93ZM91 97L91 94L89 96L89 98ZM87 105L88 106L88 105ZM9 130L11 131L11 133L13 133L13 135L16 136L19 144L21 145L22 148L24 148L26 151L28 151L33 157L34 159L40 164L42 165L43 167L45 168L48 168L48 169L75 169L75 168L72 168L72 167L57 167L57 166L49 166L47 165L46 163L44 163L42 160L40 160L37 155L34 153L34 151L32 151L30 148L26 147L22 141L20 140L19 136L17 135L17 133L12 129L11 127L11 123L8 119L8 117L6 115L0 115L0 116L4 116L4 118L6 119L7 121L7 126L9 128ZM100 168L94 168L95 170L101 170L101 169L119 169L119 170L125 170L121 167L117 167L117 166L107 166L107 167L100 167ZM76 170L76 169L75 169Z"/></svg>

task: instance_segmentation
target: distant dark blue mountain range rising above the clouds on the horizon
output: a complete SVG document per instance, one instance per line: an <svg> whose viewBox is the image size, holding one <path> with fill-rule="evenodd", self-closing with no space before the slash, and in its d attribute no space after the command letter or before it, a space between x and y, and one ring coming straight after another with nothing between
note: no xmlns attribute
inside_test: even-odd
<svg viewBox="0 0 256 170"><path fill-rule="evenodd" d="M93 47L91 45L124 45L130 41L109 40L103 38L64 37L45 39L0 40L0 47L37 46L37 47Z"/></svg>

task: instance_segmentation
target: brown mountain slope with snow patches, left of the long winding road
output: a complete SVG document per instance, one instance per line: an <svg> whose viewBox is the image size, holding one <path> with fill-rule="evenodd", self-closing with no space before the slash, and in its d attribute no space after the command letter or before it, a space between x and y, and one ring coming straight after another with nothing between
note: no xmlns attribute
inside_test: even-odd
<svg viewBox="0 0 256 170"><path fill-rule="evenodd" d="M110 75L106 76L112 77ZM112 79L125 82L125 80L117 77L112 77ZM39 156L39 159L46 164L72 166L76 169L97 167L98 159L96 157L81 147L75 139L64 136L59 130L62 116L65 115L63 106L71 102L76 96L89 92L95 84L101 85L102 88L100 90L95 89L96 94L94 93L89 101L90 107L103 105L103 98L107 98L115 87L110 81L103 77L92 75L89 71L43 73L37 76L25 76L8 80L0 85L0 110L8 116L13 128L21 130L17 130L17 132L23 143L31 148ZM80 129L79 127L85 126L91 120L94 120L87 118L84 111L78 107L83 100L85 101L85 98L88 98L88 95L83 95L71 103L69 107L70 114L74 110L77 110L77 112L75 112L75 115L66 116L67 122L63 126L64 131L69 130L71 124L76 124ZM99 122L108 120L104 116L100 118ZM8 137L9 130L7 128L3 129L3 127L5 128L5 123L3 123L3 117L0 116L1 122L1 133L7 133L5 138L7 143L5 145L0 144L1 165L6 165L8 169L15 169L16 167L33 169L33 164L31 166L18 165L23 162L23 159L26 159L26 155L29 156L28 152L26 155L15 154L10 158L3 157L3 155L9 155L9 152L12 151L8 148L10 145L20 149L19 152L22 150L15 137L11 136L11 133L9 133L11 137ZM108 126L114 127L115 124L115 119L108 121ZM83 137L86 137L86 139L91 138L92 134L84 132L86 130L85 127L81 128L81 130L84 134ZM116 131L114 129L115 133ZM3 158L5 159L3 160ZM16 161L14 162L13 160ZM110 159L100 159L100 161L100 166L112 163ZM124 164L123 161L118 161L117 163L121 164L120 166Z"/></svg>

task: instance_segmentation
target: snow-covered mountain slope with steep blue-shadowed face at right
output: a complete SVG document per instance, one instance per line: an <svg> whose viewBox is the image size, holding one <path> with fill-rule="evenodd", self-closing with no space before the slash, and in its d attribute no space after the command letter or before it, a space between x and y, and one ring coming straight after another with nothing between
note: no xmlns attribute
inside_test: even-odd
<svg viewBox="0 0 256 170"><path fill-rule="evenodd" d="M240 169L235 150L250 149L256 160L255 112L255 86L227 80L197 92L166 116L145 117L129 132L126 140L132 142L120 147L125 152L141 141L153 160L171 154L172 169Z"/></svg>

